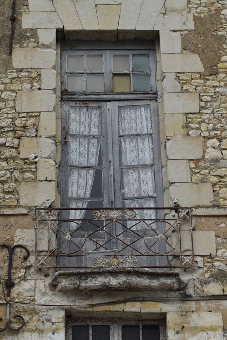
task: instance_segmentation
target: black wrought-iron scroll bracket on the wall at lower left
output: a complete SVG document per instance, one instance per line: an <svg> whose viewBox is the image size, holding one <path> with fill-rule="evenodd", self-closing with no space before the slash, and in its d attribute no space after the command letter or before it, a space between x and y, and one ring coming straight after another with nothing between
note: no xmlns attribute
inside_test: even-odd
<svg viewBox="0 0 227 340"><path fill-rule="evenodd" d="M23 260L27 260L28 256L30 255L29 250L21 245L21 244L17 244L13 247L10 247L8 244L0 244L0 248L5 248L8 250L8 271L7 271L7 280L5 283L6 289L7 289L7 297L6 297L6 318L5 318L5 326L0 328L0 332L4 332L7 328L9 328L11 331L17 332L19 331L21 328L23 328L23 326L25 325L25 320L23 318L22 315L20 314L15 314L12 316L12 318L10 318L10 297L11 297L11 289L14 286L14 283L12 281L12 264L13 264L13 255L14 255L14 250L16 248L22 248L26 251L26 255L24 256ZM20 321L20 326L17 328L14 328L11 326L11 321L12 319L17 319ZM3 318L0 317L0 321L2 321Z"/></svg>

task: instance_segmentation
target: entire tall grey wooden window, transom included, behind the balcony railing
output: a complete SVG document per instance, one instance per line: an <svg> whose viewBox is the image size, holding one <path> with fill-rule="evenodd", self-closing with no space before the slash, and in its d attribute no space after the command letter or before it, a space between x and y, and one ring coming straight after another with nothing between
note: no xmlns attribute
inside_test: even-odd
<svg viewBox="0 0 227 340"><path fill-rule="evenodd" d="M62 50L61 205L74 209L70 219L90 219L89 208L163 206L154 49L123 47ZM143 210L138 218L158 213ZM68 223L65 233L78 224ZM95 227L87 222L83 230ZM77 249L82 238L74 240ZM86 251L92 247L87 238Z"/></svg>

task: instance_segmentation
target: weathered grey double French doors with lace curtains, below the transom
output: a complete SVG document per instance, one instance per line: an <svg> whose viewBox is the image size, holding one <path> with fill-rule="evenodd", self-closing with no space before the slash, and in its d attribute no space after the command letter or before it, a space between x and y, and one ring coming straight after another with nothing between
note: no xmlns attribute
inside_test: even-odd
<svg viewBox="0 0 227 340"><path fill-rule="evenodd" d="M107 227L103 221L94 225L84 220L92 219L93 210L89 210L92 208L163 206L157 126L157 102L152 100L63 103L61 205L73 208L65 217L76 220L61 226L64 237L70 234L73 239L64 242L65 254L78 253L82 247L84 252L93 252L93 255L99 254L97 249L104 254L111 250L117 252L123 242L126 245L135 243L134 252L140 248L141 253L144 239L137 240L137 237L144 234L146 224L136 223L132 233L122 233L123 224L112 223L111 232L105 233ZM156 210L136 211L138 219L157 218ZM83 231L78 230L81 224ZM113 235L120 234L119 243ZM150 234L146 233L146 242L152 244L157 236ZM124 255L132 254L131 247L124 248ZM75 266L77 261L78 265L86 266L91 258L75 260L72 257L61 261L62 265L70 262ZM141 266L157 265L153 257L140 258L139 262Z"/></svg>

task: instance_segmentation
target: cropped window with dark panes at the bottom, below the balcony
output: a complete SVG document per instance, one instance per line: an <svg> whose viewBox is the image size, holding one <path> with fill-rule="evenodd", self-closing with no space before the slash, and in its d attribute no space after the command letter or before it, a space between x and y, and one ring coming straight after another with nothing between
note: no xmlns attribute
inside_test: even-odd
<svg viewBox="0 0 227 340"><path fill-rule="evenodd" d="M67 340L164 340L162 320L70 320Z"/></svg>

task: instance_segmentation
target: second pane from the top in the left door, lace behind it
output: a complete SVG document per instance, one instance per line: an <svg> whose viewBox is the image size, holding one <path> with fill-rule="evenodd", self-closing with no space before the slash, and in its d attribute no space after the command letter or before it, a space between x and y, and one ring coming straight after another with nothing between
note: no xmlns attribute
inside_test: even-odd
<svg viewBox="0 0 227 340"><path fill-rule="evenodd" d="M101 138L70 137L71 165L101 165Z"/></svg>

